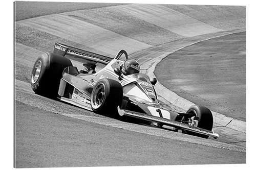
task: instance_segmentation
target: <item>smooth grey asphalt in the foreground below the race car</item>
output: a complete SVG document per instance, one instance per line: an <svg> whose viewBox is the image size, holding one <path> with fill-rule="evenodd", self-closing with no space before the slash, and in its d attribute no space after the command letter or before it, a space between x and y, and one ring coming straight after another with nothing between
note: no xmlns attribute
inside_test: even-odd
<svg viewBox="0 0 256 170"><path fill-rule="evenodd" d="M245 163L244 152L90 123L20 102L16 106L16 118L25 120L16 122L19 168ZM234 156L227 160L228 155Z"/></svg>

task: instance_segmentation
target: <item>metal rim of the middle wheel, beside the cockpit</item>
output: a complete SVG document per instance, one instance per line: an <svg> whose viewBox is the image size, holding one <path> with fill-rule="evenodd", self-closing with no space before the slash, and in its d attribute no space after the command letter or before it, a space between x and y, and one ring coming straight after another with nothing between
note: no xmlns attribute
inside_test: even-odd
<svg viewBox="0 0 256 170"><path fill-rule="evenodd" d="M92 107L94 109L99 108L104 103L105 98L105 86L104 84L99 84L95 87L95 91L92 98Z"/></svg>

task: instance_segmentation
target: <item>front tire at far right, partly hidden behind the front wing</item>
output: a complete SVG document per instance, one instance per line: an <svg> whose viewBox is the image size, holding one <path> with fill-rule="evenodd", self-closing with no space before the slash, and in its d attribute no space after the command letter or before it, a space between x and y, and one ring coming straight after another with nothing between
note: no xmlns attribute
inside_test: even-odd
<svg viewBox="0 0 256 170"><path fill-rule="evenodd" d="M214 124L214 118L212 117L212 113L208 108L203 106L193 105L189 107L186 113L193 113L195 116L199 117L197 127L210 130L210 131L212 130L212 126ZM203 138L209 137L207 135L202 135L202 134L198 134L198 133L190 132L186 130L182 130L182 133L203 137Z"/></svg>

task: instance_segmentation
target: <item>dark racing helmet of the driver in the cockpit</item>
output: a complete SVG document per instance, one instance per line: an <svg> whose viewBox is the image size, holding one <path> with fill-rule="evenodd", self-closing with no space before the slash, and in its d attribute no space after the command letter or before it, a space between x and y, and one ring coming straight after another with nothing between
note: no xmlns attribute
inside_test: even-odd
<svg viewBox="0 0 256 170"><path fill-rule="evenodd" d="M121 71L123 75L132 75L140 72L140 65L139 63L134 59L125 60Z"/></svg>

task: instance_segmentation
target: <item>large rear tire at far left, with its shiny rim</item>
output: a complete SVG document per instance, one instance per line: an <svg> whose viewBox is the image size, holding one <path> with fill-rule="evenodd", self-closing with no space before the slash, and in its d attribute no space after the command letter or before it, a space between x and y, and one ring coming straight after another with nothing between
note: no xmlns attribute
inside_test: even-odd
<svg viewBox="0 0 256 170"><path fill-rule="evenodd" d="M31 87L36 94L56 99L62 71L72 66L71 61L53 53L45 53L37 58L32 69Z"/></svg>

